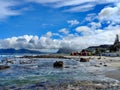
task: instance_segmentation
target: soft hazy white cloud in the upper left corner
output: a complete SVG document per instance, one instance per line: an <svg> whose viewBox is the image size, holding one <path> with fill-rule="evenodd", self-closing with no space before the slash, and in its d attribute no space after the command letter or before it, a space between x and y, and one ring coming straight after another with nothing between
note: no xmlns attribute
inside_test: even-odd
<svg viewBox="0 0 120 90"><path fill-rule="evenodd" d="M15 2L8 0L0 0L0 19L5 19L8 16L19 15L18 11L12 10L10 7L15 6Z"/></svg>

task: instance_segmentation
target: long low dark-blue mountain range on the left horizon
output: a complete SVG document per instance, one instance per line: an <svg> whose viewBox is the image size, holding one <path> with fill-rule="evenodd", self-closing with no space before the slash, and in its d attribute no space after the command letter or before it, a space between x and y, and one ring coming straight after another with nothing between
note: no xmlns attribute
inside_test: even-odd
<svg viewBox="0 0 120 90"><path fill-rule="evenodd" d="M41 54L40 51L35 50L28 50L28 49L14 49L14 48L8 48L8 49L0 49L0 54L15 54L15 53L28 53L28 54Z"/></svg>

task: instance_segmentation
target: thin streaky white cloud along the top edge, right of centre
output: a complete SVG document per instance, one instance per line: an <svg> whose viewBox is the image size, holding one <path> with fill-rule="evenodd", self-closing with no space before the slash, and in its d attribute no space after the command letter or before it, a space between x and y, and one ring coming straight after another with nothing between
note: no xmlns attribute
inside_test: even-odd
<svg viewBox="0 0 120 90"><path fill-rule="evenodd" d="M35 2L50 6L53 8L62 8L70 6L65 9L66 12L85 12L93 9L97 4L119 3L119 0L25 0L27 2Z"/></svg>

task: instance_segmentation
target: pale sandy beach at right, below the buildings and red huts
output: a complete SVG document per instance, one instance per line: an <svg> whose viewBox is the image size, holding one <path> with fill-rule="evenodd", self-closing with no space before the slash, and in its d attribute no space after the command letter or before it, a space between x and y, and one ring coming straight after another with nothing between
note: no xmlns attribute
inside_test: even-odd
<svg viewBox="0 0 120 90"><path fill-rule="evenodd" d="M107 67L111 68L110 71L106 72L107 77L115 78L120 80L120 57L105 57L105 56L66 56L68 58L90 58L94 59L100 64L106 64Z"/></svg>

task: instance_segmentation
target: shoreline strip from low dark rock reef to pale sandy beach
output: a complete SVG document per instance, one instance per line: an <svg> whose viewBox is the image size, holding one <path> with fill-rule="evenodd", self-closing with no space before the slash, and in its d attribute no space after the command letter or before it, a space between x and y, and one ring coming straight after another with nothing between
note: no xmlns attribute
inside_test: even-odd
<svg viewBox="0 0 120 90"><path fill-rule="evenodd" d="M70 56L64 54L50 54L40 56L23 56L22 58L59 58L59 59L75 59L89 58L100 63L105 63L107 67L113 69L104 73L106 77L117 79L120 81L120 57L106 57L106 56Z"/></svg>

